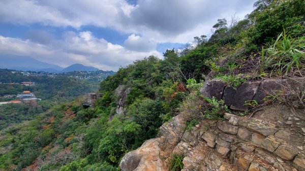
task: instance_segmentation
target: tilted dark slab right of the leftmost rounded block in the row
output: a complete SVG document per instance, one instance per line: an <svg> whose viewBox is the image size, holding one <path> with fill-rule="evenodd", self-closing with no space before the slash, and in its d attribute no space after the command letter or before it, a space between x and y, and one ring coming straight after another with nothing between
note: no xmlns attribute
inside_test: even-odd
<svg viewBox="0 0 305 171"><path fill-rule="evenodd" d="M238 110L238 111L246 111L248 109L247 106L243 106L245 101L252 100L255 95L258 86L261 82L243 82L237 89L234 94L234 97L231 102L230 109Z"/></svg>

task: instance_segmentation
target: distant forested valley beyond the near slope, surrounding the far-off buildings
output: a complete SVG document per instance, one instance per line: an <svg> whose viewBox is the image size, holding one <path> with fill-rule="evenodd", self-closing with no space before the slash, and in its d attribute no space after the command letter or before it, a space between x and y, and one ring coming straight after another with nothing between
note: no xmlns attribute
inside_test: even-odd
<svg viewBox="0 0 305 171"><path fill-rule="evenodd" d="M33 92L42 101L29 104L7 104L0 106L0 130L14 123L32 120L38 114L46 112L52 106L71 101L75 97L98 90L97 82L83 81L67 76L24 76L20 72L0 69L0 80L3 83L20 83L23 81L36 82L34 86L21 84L0 83L0 101L9 101L17 98L5 98L5 94L19 94L24 90Z"/></svg>

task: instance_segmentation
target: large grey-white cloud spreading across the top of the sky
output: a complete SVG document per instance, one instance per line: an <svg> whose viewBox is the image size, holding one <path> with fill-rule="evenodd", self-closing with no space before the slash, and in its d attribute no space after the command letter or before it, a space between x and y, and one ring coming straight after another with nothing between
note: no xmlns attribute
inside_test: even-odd
<svg viewBox="0 0 305 171"><path fill-rule="evenodd" d="M3 0L0 21L75 28L92 24L135 33L156 42L186 43L194 36L207 34L218 18L229 19L234 13L243 18L251 12L254 2L139 0L138 5L133 6L124 0ZM199 34L193 35L190 31Z"/></svg>

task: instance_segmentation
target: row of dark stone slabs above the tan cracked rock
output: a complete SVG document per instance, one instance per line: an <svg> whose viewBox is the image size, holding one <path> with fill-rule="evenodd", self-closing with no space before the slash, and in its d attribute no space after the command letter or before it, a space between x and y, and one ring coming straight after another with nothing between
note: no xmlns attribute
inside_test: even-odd
<svg viewBox="0 0 305 171"><path fill-rule="evenodd" d="M246 111L244 106L247 100L256 100L258 104L263 104L263 98L276 95L280 92L293 90L300 93L305 89L305 80L302 78L270 79L253 82L243 82L239 87L233 88L222 79L212 79L206 81L200 93L211 98L223 99L225 104L232 110Z"/></svg>

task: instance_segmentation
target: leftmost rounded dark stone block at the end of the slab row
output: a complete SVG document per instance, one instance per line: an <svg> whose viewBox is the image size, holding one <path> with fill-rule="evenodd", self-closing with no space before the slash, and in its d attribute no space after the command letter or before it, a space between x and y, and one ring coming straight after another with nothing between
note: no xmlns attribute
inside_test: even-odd
<svg viewBox="0 0 305 171"><path fill-rule="evenodd" d="M212 98L214 96L217 99L221 99L225 86L227 86L227 83L222 81L222 79L212 79L206 81L199 92L204 97Z"/></svg>

